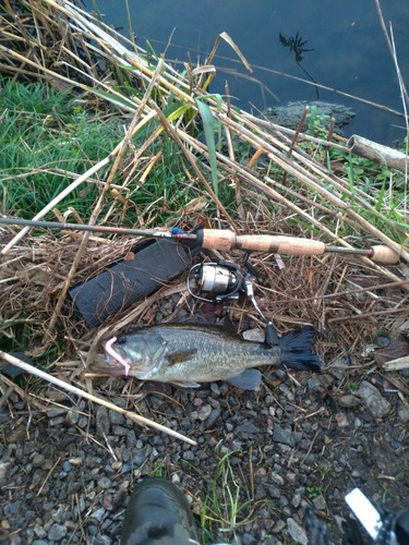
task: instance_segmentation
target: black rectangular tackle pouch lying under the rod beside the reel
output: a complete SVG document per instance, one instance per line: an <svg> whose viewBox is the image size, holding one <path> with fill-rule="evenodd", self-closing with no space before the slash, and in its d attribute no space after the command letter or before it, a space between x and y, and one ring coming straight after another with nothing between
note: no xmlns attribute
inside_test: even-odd
<svg viewBox="0 0 409 545"><path fill-rule="evenodd" d="M89 328L125 311L191 266L189 251L166 239L144 241L133 247L132 253L133 258L121 259L94 278L70 288L74 307Z"/></svg>

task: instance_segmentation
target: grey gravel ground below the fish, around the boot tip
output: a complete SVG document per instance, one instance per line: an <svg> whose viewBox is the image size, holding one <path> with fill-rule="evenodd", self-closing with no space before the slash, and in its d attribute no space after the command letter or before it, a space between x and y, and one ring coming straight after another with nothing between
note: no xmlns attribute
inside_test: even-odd
<svg viewBox="0 0 409 545"><path fill-rule="evenodd" d="M153 474L178 483L197 520L205 509L217 521L207 523L209 543L308 543L308 506L339 543L354 486L375 504L409 507L409 411L397 390L376 372L360 384L352 371L292 375L297 383L272 372L255 392L145 383L135 398L123 397L125 378L101 383L99 395L197 447L81 399L28 410L12 392L0 408L0 541L117 544L134 484ZM51 388L46 397L62 404Z"/></svg>

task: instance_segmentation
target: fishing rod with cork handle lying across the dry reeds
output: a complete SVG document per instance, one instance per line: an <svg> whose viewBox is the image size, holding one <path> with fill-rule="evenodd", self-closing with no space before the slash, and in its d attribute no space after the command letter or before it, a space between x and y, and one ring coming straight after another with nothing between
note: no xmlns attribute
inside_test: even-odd
<svg viewBox="0 0 409 545"><path fill-rule="evenodd" d="M89 226L84 223L62 223L58 221L41 221L22 218L1 218L0 225L43 227L99 233L130 234L155 239L173 239L176 241L196 241L197 245L208 250L243 250L244 252L269 252L289 255L322 255L325 253L341 253L363 255L370 259L393 264L399 261L399 255L388 246L375 245L368 249L332 246L324 242L296 237L270 234L239 235L228 229L199 229L195 233L184 233L179 229L160 231L156 229L130 229L123 227Z"/></svg>

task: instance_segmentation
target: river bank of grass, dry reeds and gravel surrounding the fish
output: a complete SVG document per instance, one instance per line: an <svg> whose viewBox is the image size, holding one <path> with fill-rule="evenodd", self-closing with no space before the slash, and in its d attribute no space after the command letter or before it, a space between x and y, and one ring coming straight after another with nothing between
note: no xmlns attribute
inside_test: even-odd
<svg viewBox="0 0 409 545"><path fill-rule="evenodd" d="M344 495L352 486L389 508L407 507L408 376L386 365L408 352L405 173L353 156L342 138L328 141L318 119L314 134L274 124L267 131L263 120L206 93L212 59L179 74L67 11L71 4L21 7L34 12L14 11L20 26L1 12L12 34L1 49L3 75L22 82L1 84L2 215L185 231L202 223L334 245L386 244L400 249L401 259L252 254L262 312L280 335L312 324L325 371L268 370L256 392L222 383L184 390L91 382L80 353L141 325L215 320L219 307L195 303L182 277L89 329L67 288L128 256L132 241L36 230L13 242L19 229L2 227L0 350L25 352L50 375L197 443L141 427L35 376L2 374L2 538L118 543L135 481L153 474L179 483L204 543L305 543L306 506L339 543L337 520L347 517ZM61 36L75 48L61 47ZM49 56L39 47L46 43L53 44ZM86 60L91 51L104 70ZM242 263L240 252L221 255ZM261 328L245 298L228 313L240 332Z"/></svg>

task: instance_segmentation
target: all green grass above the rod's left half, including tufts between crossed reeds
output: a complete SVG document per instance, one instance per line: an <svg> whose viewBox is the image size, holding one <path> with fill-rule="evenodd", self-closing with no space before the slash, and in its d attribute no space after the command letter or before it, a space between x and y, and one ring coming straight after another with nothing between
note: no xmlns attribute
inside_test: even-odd
<svg viewBox="0 0 409 545"><path fill-rule="evenodd" d="M71 183L70 173L80 175L105 158L123 138L122 125L130 120L104 119L91 112L81 97L39 83L0 80L0 211L32 218ZM130 154L142 137L133 142ZM197 191L185 184L187 167L180 149L166 134L146 155L159 149L163 155L146 181L139 183L140 172L135 172L122 194L128 201L125 223L139 221L141 210L148 210L144 220L154 217L156 225L172 215L177 219L180 209L197 196ZM130 155L123 162L131 160ZM125 169L119 170L115 183L123 182L125 175ZM73 207L86 221L99 193L97 184L81 185L64 198L60 211ZM120 199L111 198L103 214L112 202L118 209L122 207Z"/></svg>

